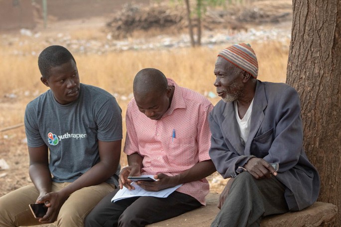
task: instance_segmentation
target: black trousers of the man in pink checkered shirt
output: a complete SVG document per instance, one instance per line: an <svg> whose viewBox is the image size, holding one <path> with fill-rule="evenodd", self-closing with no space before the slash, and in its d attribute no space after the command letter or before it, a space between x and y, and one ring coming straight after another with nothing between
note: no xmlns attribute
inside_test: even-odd
<svg viewBox="0 0 341 227"><path fill-rule="evenodd" d="M85 227L144 227L202 206L193 197L176 191L167 198L141 196L112 203L117 191L100 201L85 219Z"/></svg>

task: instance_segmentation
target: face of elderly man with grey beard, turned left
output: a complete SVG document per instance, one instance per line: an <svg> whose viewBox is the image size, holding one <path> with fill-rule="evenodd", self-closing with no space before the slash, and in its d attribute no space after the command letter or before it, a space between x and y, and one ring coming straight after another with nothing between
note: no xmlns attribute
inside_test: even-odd
<svg viewBox="0 0 341 227"><path fill-rule="evenodd" d="M235 101L243 95L243 73L243 70L224 58L218 57L214 70L216 75L214 86L217 88L218 96L222 97L224 102Z"/></svg>

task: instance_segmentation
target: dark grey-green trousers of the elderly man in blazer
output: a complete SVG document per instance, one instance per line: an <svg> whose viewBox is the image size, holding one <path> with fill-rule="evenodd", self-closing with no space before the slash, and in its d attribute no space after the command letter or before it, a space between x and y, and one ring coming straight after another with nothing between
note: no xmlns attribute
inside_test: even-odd
<svg viewBox="0 0 341 227"><path fill-rule="evenodd" d="M211 227L260 227L263 216L289 211L284 191L285 187L275 176L257 180L248 172L242 172L233 179Z"/></svg>

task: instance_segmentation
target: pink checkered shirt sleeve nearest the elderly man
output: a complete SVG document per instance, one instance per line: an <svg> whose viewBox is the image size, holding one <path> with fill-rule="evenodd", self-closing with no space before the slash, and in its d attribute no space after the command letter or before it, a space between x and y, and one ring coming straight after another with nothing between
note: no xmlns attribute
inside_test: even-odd
<svg viewBox="0 0 341 227"><path fill-rule="evenodd" d="M207 101L204 102L199 108L199 118L198 118L198 153L199 161L210 160L209 149L211 146L211 131L208 120L208 115L212 111L213 105Z"/></svg>

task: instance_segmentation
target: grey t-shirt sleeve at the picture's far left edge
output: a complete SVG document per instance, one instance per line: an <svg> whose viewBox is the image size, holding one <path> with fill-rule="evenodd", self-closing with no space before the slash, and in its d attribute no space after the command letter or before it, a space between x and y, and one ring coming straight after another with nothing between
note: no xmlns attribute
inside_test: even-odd
<svg viewBox="0 0 341 227"><path fill-rule="evenodd" d="M27 145L29 147L40 147L44 145L44 140L41 138L37 114L34 114L34 110L31 105L27 105L24 116L25 133L27 138Z"/></svg>

